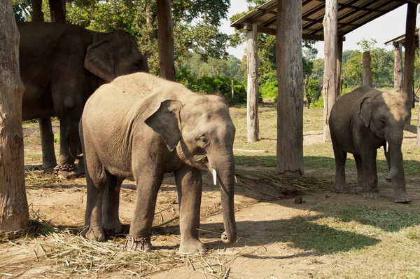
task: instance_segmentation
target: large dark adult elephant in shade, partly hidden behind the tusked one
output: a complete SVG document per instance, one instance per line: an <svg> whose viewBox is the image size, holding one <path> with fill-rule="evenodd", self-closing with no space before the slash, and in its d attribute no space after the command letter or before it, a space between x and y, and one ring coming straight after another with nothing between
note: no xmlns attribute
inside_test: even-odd
<svg viewBox="0 0 420 279"><path fill-rule="evenodd" d="M95 33L77 25L18 22L20 77L25 85L22 118L40 118L43 168L56 165L51 116L60 121L59 165L72 165L82 154L78 123L94 90L123 74L148 72L137 43L123 31ZM79 160L84 172L83 160ZM76 177L63 171L59 176Z"/></svg>

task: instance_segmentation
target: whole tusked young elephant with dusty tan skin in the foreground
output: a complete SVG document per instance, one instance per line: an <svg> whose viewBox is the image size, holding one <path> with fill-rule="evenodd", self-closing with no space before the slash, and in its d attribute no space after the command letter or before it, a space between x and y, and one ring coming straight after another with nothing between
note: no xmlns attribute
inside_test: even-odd
<svg viewBox="0 0 420 279"><path fill-rule="evenodd" d="M121 76L87 100L80 121L87 179L85 236L104 241L119 232L120 185L133 175L134 250L150 251L155 204L165 172L174 172L180 207L180 252L204 252L198 238L202 171L221 185L224 243L235 241L235 126L221 97L199 95L150 74ZM132 244L132 243L131 243ZM131 244L128 245L129 248Z"/></svg>

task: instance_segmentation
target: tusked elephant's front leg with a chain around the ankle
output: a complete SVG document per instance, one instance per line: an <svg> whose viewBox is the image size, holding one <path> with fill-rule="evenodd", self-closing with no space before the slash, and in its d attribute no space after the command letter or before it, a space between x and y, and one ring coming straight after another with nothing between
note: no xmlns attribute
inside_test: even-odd
<svg viewBox="0 0 420 279"><path fill-rule="evenodd" d="M153 162L143 162L141 166L153 166L153 164ZM153 168L142 168L134 172L134 177L137 182L137 200L130 235L127 236L127 247L148 252L152 250L151 229L163 172Z"/></svg>

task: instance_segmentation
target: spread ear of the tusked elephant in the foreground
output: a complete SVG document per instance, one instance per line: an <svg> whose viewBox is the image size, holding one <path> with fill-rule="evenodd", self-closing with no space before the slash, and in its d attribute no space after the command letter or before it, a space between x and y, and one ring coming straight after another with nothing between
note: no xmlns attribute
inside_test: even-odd
<svg viewBox="0 0 420 279"><path fill-rule="evenodd" d="M146 125L157 132L167 144L169 151L174 151L181 140L182 103L176 100L166 100L146 121Z"/></svg>

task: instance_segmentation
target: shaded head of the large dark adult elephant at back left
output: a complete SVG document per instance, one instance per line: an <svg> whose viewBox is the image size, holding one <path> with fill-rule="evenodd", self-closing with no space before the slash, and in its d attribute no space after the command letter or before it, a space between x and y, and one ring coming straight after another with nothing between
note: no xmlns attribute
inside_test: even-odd
<svg viewBox="0 0 420 279"><path fill-rule="evenodd" d="M147 59L140 53L136 41L121 30L94 33L93 43L87 47L83 66L106 83L117 76L148 72Z"/></svg>

